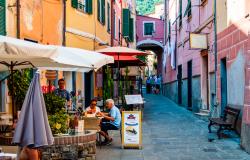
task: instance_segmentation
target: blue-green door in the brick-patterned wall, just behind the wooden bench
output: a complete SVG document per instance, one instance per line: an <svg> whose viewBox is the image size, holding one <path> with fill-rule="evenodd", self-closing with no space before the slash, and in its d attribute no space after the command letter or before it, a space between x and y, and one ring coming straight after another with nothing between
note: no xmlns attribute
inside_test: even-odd
<svg viewBox="0 0 250 160"><path fill-rule="evenodd" d="M226 58L220 61L221 75L221 114L227 106L227 60Z"/></svg>

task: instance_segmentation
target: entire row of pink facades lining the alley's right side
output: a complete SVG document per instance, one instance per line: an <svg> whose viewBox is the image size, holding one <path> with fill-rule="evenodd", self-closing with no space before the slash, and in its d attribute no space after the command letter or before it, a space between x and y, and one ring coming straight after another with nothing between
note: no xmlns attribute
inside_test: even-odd
<svg viewBox="0 0 250 160"><path fill-rule="evenodd" d="M226 106L241 109L237 131L241 146L250 152L250 2L216 1L216 19L213 0L170 0L166 4L164 95L187 109L212 116L222 115ZM192 33L207 36L207 49L193 50Z"/></svg>

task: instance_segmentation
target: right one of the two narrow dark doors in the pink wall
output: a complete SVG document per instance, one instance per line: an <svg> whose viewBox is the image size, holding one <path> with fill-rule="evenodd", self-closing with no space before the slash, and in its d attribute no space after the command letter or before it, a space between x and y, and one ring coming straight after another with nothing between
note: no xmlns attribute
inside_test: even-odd
<svg viewBox="0 0 250 160"><path fill-rule="evenodd" d="M188 88L188 109L192 110L192 60L188 62L187 66L187 88Z"/></svg>

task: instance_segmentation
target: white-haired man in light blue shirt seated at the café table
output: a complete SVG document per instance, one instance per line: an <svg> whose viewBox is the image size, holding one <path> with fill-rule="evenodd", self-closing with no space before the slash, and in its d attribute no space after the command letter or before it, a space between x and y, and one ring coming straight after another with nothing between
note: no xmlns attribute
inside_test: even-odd
<svg viewBox="0 0 250 160"><path fill-rule="evenodd" d="M106 106L110 112L108 116L100 113L103 116L100 134L105 137L104 144L109 145L112 143L112 138L109 137L108 130L118 130L120 128L121 113L120 110L114 105L114 100L112 99L106 100Z"/></svg>

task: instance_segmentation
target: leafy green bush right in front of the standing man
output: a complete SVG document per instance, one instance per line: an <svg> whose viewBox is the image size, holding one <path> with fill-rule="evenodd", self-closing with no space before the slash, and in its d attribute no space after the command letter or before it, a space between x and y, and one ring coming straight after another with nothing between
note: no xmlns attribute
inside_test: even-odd
<svg viewBox="0 0 250 160"><path fill-rule="evenodd" d="M49 115L56 114L65 108L65 99L55 95L54 93L44 94L44 101Z"/></svg>

